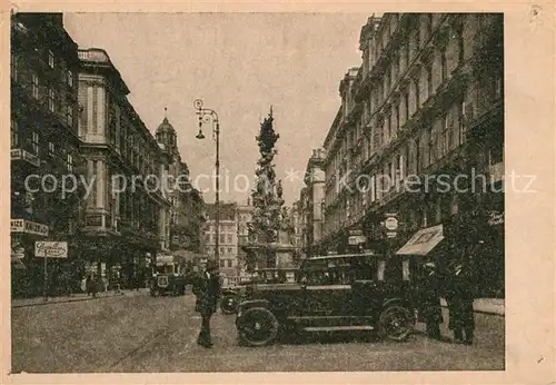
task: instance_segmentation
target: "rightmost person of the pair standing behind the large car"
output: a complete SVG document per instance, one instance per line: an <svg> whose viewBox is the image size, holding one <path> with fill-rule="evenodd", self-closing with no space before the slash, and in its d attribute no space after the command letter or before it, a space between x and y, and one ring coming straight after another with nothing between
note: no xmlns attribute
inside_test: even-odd
<svg viewBox="0 0 556 385"><path fill-rule="evenodd" d="M447 283L446 300L449 310L449 328L456 343L473 344L475 315L474 289L468 266L457 265Z"/></svg>

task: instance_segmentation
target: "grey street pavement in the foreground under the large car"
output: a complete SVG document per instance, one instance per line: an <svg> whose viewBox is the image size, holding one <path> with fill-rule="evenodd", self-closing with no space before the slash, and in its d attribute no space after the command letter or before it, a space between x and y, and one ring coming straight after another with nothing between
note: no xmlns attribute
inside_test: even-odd
<svg viewBox="0 0 556 385"><path fill-rule="evenodd" d="M476 315L477 343L470 347L416 334L401 344L336 335L249 348L237 344L235 316L217 313L215 347L205 349L196 344L200 317L193 298L153 298L143 292L13 308L12 373L504 368L503 317Z"/></svg>

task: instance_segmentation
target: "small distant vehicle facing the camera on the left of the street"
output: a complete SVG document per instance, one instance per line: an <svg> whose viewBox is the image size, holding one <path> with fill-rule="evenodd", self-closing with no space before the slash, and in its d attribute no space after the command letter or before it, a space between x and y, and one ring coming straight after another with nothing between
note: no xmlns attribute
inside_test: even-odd
<svg viewBox="0 0 556 385"><path fill-rule="evenodd" d="M188 279L175 256L157 256L150 279L150 295L185 295Z"/></svg>

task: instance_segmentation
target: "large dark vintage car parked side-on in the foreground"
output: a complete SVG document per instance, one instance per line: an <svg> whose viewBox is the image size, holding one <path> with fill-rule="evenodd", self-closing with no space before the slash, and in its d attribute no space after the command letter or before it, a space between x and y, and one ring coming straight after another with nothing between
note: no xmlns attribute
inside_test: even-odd
<svg viewBox="0 0 556 385"><path fill-rule="evenodd" d="M337 255L304 261L296 283L258 284L238 306L240 344L262 346L279 333L378 330L403 342L413 333L415 310L408 282L384 280L384 256ZM378 277L378 278L377 278Z"/></svg>

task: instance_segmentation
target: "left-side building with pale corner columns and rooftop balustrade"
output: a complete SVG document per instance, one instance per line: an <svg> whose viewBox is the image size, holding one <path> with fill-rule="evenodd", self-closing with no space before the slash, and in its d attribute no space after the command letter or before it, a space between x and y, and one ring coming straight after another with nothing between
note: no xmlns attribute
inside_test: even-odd
<svg viewBox="0 0 556 385"><path fill-rule="evenodd" d="M160 184L168 180L171 154L127 99L108 53L93 48L79 50L79 137L91 184L80 251L100 270L115 266L126 282L142 283L147 258L169 249L170 201Z"/></svg>

